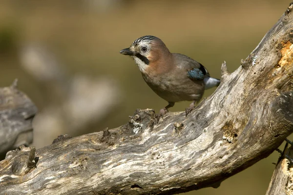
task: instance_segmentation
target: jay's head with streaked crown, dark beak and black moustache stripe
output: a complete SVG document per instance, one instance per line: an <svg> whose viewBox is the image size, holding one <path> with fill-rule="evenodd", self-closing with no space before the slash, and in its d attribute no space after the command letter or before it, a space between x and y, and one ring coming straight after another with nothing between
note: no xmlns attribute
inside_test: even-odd
<svg viewBox="0 0 293 195"><path fill-rule="evenodd" d="M120 54L131 56L139 70L145 73L149 67L157 67L170 52L165 43L154 36L144 36L133 41L130 47L120 51Z"/></svg>

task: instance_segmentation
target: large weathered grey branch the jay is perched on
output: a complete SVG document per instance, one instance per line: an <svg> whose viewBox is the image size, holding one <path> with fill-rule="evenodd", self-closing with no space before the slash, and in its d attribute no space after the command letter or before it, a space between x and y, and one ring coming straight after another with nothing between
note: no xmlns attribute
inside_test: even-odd
<svg viewBox="0 0 293 195"><path fill-rule="evenodd" d="M121 127L59 137L34 156L9 152L0 192L174 194L218 187L269 156L293 132L292 7L236 71L223 63L221 85L188 117L137 110Z"/></svg>

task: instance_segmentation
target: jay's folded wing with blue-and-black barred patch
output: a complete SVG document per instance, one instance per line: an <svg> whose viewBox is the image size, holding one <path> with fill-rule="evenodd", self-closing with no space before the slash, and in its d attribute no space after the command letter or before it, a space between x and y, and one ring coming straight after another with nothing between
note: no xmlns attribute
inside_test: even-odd
<svg viewBox="0 0 293 195"><path fill-rule="evenodd" d="M208 70L199 62L182 54L173 54L177 66L187 71L187 76L191 79L203 80L209 77Z"/></svg>

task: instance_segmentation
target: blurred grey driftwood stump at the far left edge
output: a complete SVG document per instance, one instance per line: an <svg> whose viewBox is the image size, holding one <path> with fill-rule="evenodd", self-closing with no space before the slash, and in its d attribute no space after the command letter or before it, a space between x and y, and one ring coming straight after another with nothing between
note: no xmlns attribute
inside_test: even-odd
<svg viewBox="0 0 293 195"><path fill-rule="evenodd" d="M35 104L17 89L17 79L11 86L0 88L0 159L9 150L32 143L36 112Z"/></svg>

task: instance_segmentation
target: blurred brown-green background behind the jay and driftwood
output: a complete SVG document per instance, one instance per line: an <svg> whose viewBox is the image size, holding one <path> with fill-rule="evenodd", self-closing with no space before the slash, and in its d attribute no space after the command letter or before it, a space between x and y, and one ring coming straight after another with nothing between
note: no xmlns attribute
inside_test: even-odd
<svg viewBox="0 0 293 195"><path fill-rule="evenodd" d="M19 89L39 108L34 143L125 124L137 108L167 102L151 91L134 61L119 54L144 35L204 64L220 78L240 65L281 17L288 0L1 0L0 87ZM214 89L206 91L210 96ZM169 111L184 111L190 102ZM293 137L291 137L292 139ZM282 149L282 148L281 148ZM262 195L278 153L222 182L188 195Z"/></svg>

